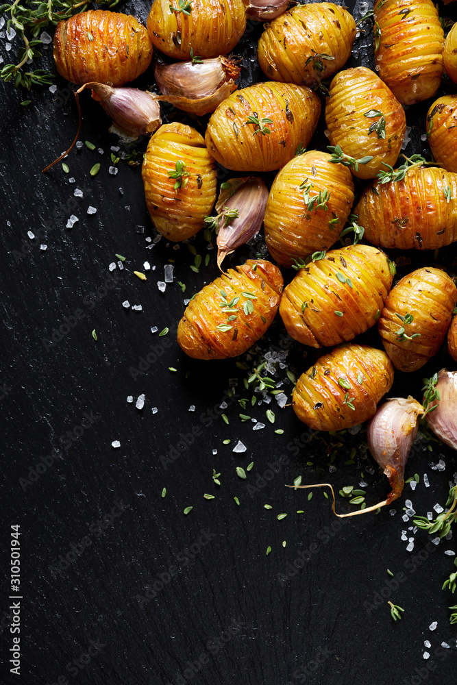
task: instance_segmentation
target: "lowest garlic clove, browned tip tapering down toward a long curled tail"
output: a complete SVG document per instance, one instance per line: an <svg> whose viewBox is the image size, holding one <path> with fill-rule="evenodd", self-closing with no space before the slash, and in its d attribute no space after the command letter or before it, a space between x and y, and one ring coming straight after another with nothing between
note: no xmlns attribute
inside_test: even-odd
<svg viewBox="0 0 457 685"><path fill-rule="evenodd" d="M368 447L392 488L386 504L402 494L406 460L417 436L420 414L423 406L413 397L393 397L367 424Z"/></svg>

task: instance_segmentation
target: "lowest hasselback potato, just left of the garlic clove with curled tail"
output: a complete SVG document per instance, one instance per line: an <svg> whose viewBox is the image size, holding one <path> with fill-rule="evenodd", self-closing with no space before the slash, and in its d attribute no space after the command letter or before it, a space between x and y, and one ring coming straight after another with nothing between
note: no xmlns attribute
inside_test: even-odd
<svg viewBox="0 0 457 685"><path fill-rule="evenodd" d="M340 430L371 419L392 384L393 366L385 352L367 345L343 345L301 374L292 405L300 421L311 428Z"/></svg>

